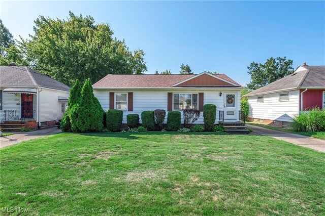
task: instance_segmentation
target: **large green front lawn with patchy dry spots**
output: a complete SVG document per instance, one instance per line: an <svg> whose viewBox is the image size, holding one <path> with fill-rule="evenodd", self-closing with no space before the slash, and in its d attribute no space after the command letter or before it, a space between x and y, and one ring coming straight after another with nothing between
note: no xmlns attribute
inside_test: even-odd
<svg viewBox="0 0 325 216"><path fill-rule="evenodd" d="M21 215L325 214L325 154L265 136L61 133L0 153L0 207Z"/></svg>

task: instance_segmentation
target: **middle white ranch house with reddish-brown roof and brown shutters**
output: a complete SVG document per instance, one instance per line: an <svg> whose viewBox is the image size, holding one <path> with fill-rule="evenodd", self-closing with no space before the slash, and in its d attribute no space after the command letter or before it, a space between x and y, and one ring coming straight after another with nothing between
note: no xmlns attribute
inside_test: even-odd
<svg viewBox="0 0 325 216"><path fill-rule="evenodd" d="M243 87L225 74L109 74L93 84L94 95L104 110L123 110L126 115L145 110L164 109L166 112L198 109L203 122L203 105L217 106L219 120L238 121L240 90ZM167 121L167 115L165 122ZM182 119L183 121L183 119Z"/></svg>

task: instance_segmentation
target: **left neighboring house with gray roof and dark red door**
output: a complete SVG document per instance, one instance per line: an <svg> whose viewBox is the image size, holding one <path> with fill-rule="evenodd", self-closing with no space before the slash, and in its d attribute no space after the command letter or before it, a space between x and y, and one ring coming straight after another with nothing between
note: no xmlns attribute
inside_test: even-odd
<svg viewBox="0 0 325 216"><path fill-rule="evenodd" d="M28 67L1 66L1 126L14 127L10 124L19 121L30 128L53 125L67 109L69 91L67 85Z"/></svg>

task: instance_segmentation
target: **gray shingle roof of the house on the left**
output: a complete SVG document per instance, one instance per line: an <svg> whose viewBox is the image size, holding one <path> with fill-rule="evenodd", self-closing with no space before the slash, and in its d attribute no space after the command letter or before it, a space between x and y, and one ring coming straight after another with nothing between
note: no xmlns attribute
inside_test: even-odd
<svg viewBox="0 0 325 216"><path fill-rule="evenodd" d="M1 66L0 85L5 87L44 87L62 91L70 88L55 79L28 67Z"/></svg>

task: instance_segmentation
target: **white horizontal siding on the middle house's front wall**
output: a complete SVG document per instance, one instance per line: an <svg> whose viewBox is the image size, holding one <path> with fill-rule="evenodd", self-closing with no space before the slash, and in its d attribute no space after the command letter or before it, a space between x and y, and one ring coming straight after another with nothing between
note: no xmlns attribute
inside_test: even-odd
<svg viewBox="0 0 325 216"><path fill-rule="evenodd" d="M110 104L110 96L109 93L114 92L113 90L94 90L94 95L98 100L100 101L103 109L107 111L109 109ZM146 110L155 110L155 109L164 109L166 110L166 118L165 123L167 122L167 97L168 93L188 93L189 91L132 91L128 90L127 92L133 92L133 111L126 111L123 110L123 123L126 123L126 115L127 114L139 114L140 122L141 122L141 113L142 111ZM211 91L203 91L203 90L194 90L191 91L193 94L197 94L203 92L204 93L204 104L215 104L217 106L217 113L216 113L216 121L217 123L219 121L219 110L223 110L223 94L220 97L219 93L220 90L211 90ZM223 92L223 91L222 91ZM237 100L237 113L238 110L240 110L240 90L239 91L226 91L230 93L234 93L236 95L235 99ZM121 91L116 91L116 93L121 93ZM200 100L200 99L199 99ZM182 111L180 111L182 113ZM183 117L182 117L183 121ZM203 124L203 112L201 112L201 115L196 121L196 123Z"/></svg>

